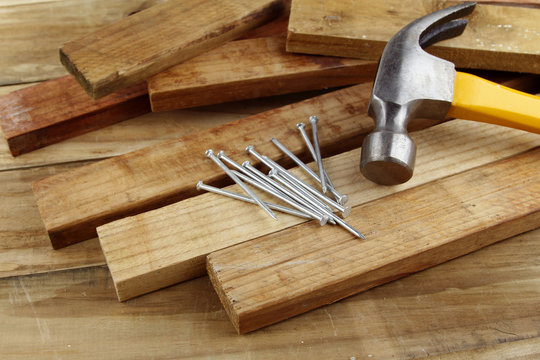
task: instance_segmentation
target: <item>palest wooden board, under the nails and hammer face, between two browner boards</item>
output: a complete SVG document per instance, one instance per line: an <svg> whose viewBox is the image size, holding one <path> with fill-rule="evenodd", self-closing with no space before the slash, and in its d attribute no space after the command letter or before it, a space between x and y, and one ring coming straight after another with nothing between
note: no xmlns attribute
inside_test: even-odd
<svg viewBox="0 0 540 360"><path fill-rule="evenodd" d="M349 196L349 206L540 146L540 139L534 134L460 120L415 132L413 136L419 149L415 176L398 187L382 187L363 179L357 166L360 149L325 159L325 168L334 184ZM237 160L241 163L240 159L245 158ZM210 162L207 166L215 167ZM242 193L236 185L229 190ZM118 299L124 301L204 275L205 257L213 251L306 222L277 215L276 222L266 213L254 210L251 204L204 194L103 225L97 231ZM317 223L310 222L311 230L316 231L317 227ZM343 230L334 227L333 231Z"/></svg>

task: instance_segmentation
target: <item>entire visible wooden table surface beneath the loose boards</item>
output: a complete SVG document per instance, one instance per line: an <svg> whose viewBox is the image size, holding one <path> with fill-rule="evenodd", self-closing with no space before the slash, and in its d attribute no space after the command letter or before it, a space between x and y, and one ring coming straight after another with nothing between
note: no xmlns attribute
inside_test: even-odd
<svg viewBox="0 0 540 360"><path fill-rule="evenodd" d="M62 43L157 2L0 1L0 94L64 75ZM540 358L540 229L242 336L207 277L119 303L97 239L50 247L34 180L310 96L148 114L17 158L0 142L0 358Z"/></svg>

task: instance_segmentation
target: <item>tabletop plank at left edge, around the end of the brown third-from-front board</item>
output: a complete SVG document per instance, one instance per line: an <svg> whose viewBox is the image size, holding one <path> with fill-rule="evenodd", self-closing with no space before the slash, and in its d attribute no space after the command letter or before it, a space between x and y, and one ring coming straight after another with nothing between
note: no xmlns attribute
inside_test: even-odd
<svg viewBox="0 0 540 360"><path fill-rule="evenodd" d="M0 277L105 263L97 239L51 249L32 193L32 182L81 164L0 172Z"/></svg>

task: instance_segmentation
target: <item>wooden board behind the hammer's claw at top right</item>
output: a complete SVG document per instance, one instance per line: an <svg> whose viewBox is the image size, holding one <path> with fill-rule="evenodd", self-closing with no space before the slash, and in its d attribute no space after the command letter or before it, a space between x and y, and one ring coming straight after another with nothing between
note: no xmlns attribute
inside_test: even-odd
<svg viewBox="0 0 540 360"><path fill-rule="evenodd" d="M287 51L377 60L388 40L409 22L454 3L294 0ZM477 5L461 36L429 52L458 67L539 74L539 33L540 9Z"/></svg>

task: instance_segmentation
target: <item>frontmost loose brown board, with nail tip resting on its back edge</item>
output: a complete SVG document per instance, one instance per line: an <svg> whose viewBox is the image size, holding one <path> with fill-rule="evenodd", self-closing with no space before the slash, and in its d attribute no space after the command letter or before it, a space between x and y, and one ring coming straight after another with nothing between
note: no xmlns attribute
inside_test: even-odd
<svg viewBox="0 0 540 360"><path fill-rule="evenodd" d="M540 148L353 209L361 241L308 224L210 254L239 333L333 303L540 225Z"/></svg>

